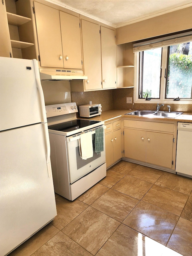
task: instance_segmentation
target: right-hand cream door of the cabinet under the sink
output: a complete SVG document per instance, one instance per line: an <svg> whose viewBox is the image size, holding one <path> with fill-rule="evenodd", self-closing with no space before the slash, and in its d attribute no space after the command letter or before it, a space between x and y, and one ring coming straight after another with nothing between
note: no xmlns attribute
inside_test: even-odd
<svg viewBox="0 0 192 256"><path fill-rule="evenodd" d="M146 132L146 162L172 168L173 134Z"/></svg>

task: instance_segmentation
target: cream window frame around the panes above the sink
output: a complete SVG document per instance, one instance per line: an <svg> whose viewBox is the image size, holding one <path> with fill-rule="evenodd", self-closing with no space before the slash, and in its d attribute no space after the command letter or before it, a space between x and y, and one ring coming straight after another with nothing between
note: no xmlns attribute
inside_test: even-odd
<svg viewBox="0 0 192 256"><path fill-rule="evenodd" d="M152 98L150 101L146 101L143 98L139 98L139 65L140 65L140 52L134 53L134 103L146 103L146 104L192 104L192 99L180 99L180 101L173 101L173 99L165 98L166 93L166 77L165 77L165 69L167 75L167 64L168 64L168 47L162 47L162 59L161 59L161 84L160 84L160 98ZM176 96L177 97L177 96Z"/></svg>

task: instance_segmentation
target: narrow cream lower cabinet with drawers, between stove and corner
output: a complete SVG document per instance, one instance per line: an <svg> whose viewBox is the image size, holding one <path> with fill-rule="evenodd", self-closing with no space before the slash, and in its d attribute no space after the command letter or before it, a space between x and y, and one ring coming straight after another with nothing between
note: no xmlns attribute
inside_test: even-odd
<svg viewBox="0 0 192 256"><path fill-rule="evenodd" d="M107 123L105 129L105 153L107 167L122 158L121 120Z"/></svg>

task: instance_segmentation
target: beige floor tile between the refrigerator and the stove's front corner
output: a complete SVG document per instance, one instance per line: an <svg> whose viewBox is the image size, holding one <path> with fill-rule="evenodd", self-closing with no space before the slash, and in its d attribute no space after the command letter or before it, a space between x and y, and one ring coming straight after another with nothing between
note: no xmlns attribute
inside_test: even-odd
<svg viewBox="0 0 192 256"><path fill-rule="evenodd" d="M57 216L51 222L59 230L64 228L70 221L72 221L76 216L78 216L82 211L84 211L88 205L79 201L69 201L64 197L55 197Z"/></svg>

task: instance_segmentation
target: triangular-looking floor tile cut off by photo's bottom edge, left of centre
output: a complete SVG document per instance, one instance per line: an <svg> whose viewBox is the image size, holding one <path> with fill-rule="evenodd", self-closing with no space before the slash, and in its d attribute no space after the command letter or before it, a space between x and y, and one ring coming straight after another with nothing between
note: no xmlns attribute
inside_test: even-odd
<svg viewBox="0 0 192 256"><path fill-rule="evenodd" d="M61 231L39 248L32 256L91 256Z"/></svg>

